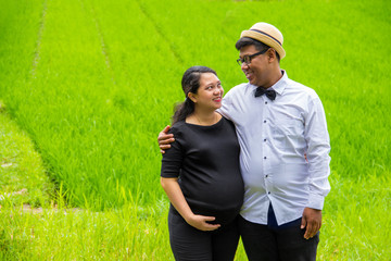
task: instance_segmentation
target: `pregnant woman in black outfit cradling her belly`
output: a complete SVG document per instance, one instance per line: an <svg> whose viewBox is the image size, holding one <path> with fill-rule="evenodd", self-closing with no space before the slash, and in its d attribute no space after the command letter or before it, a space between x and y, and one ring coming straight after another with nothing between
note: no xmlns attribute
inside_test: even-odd
<svg viewBox="0 0 391 261"><path fill-rule="evenodd" d="M243 202L239 142L234 124L216 112L223 87L212 69L192 66L181 80L162 159L161 184L171 201L168 231L176 260L234 260Z"/></svg>

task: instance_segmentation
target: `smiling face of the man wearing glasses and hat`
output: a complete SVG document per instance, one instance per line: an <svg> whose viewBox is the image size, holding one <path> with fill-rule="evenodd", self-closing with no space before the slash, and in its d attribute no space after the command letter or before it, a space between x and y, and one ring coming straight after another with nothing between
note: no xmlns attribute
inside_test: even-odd
<svg viewBox="0 0 391 261"><path fill-rule="evenodd" d="M240 49L239 55L240 58L243 58L256 52L260 52L260 50L256 50L254 46L247 46ZM250 84L268 88L269 86L267 86L267 83L270 77L268 64L268 51L266 51L263 54L252 58L249 64L242 63L241 70Z"/></svg>

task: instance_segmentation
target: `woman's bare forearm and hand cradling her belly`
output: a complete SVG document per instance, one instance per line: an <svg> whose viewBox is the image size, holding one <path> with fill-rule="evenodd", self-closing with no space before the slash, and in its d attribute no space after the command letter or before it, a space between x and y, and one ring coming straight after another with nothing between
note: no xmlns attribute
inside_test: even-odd
<svg viewBox="0 0 391 261"><path fill-rule="evenodd" d="M200 231L214 231L220 226L207 223L207 221L214 221L214 216L197 215L191 211L179 187L178 178L161 177L161 184L174 208L189 225Z"/></svg>

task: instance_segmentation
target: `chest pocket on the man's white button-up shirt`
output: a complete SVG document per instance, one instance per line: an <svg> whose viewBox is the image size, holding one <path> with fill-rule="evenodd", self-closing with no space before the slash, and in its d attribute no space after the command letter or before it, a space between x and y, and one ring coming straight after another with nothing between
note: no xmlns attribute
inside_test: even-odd
<svg viewBox="0 0 391 261"><path fill-rule="evenodd" d="M273 125L273 140L278 149L289 151L305 147L304 124L300 119L280 117Z"/></svg>

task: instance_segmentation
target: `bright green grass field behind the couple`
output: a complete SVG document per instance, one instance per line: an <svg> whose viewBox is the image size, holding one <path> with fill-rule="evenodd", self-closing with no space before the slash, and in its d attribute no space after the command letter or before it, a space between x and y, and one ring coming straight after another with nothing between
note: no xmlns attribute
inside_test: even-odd
<svg viewBox="0 0 391 261"><path fill-rule="evenodd" d="M326 110L318 260L391 260L389 1L0 7L0 260L173 260L157 133L189 66L226 91L245 82L235 42L256 22L282 32L281 67Z"/></svg>

